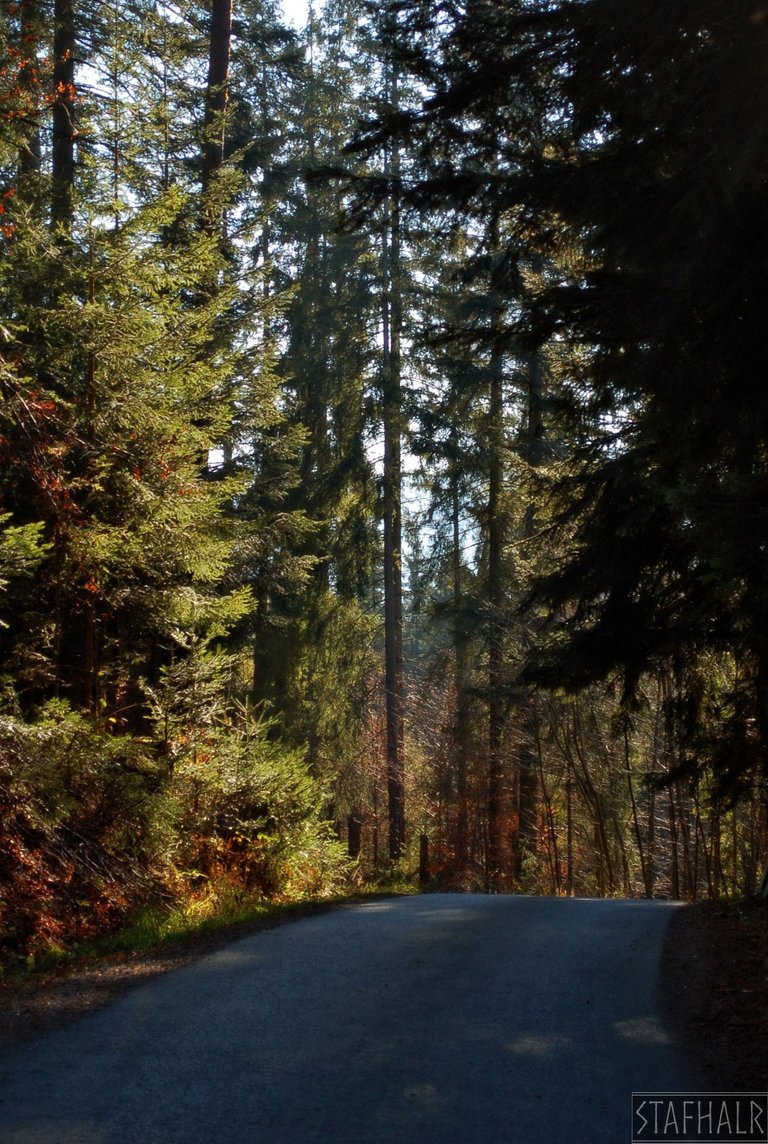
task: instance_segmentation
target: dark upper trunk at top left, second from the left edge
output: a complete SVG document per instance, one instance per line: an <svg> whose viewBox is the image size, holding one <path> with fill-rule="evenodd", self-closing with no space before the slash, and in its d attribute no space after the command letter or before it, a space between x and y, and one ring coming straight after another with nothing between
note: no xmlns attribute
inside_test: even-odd
<svg viewBox="0 0 768 1144"><path fill-rule="evenodd" d="M54 95L52 104L52 221L69 229L73 214L76 103L74 0L54 0Z"/></svg>

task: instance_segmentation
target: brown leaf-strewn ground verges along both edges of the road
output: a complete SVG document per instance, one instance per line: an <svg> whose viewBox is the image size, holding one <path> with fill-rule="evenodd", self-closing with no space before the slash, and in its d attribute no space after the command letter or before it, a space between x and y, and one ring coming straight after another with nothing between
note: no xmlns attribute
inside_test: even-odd
<svg viewBox="0 0 768 1144"><path fill-rule="evenodd" d="M309 903L287 916L196 935L155 953L110 954L0 983L0 1050L116 1000L260 929L340 908ZM663 1016L703 1091L768 1089L768 906L699 903L675 911L662 963Z"/></svg>

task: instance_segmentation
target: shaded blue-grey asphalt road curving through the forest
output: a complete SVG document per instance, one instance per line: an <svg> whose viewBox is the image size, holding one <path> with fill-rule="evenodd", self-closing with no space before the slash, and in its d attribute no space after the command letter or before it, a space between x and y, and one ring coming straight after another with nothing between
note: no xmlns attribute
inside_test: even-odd
<svg viewBox="0 0 768 1144"><path fill-rule="evenodd" d="M2 1144L621 1144L686 1070L662 901L425 895L254 934L0 1058Z"/></svg>

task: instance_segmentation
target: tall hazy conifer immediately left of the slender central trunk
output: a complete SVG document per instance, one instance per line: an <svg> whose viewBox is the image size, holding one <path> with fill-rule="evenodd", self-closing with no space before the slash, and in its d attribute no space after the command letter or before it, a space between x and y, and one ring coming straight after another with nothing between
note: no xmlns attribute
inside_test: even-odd
<svg viewBox="0 0 768 1144"><path fill-rule="evenodd" d="M239 34L251 47L232 61L232 121L252 194L245 265L261 275L262 366L251 397L238 392L233 464L248 480L237 516L247 522L244 572L256 597L253 699L307 749L328 812L343 820L359 802L375 626L374 275L366 237L340 229L335 190L307 176L350 132L356 14L330 6L299 39L255 11L248 19Z"/></svg>

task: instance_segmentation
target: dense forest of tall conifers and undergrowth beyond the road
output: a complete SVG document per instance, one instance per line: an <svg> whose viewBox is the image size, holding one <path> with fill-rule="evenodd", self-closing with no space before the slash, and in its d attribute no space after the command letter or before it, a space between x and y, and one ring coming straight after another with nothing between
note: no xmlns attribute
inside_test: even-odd
<svg viewBox="0 0 768 1144"><path fill-rule="evenodd" d="M0 17L0 930L754 890L758 0Z"/></svg>

